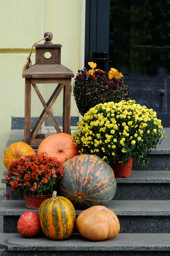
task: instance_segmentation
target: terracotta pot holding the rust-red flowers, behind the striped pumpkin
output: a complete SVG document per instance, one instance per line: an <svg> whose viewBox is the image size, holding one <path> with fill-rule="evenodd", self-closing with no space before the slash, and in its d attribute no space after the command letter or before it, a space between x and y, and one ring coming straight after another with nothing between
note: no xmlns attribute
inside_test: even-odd
<svg viewBox="0 0 170 256"><path fill-rule="evenodd" d="M25 206L29 209L39 209L40 205L42 202L44 202L44 200L51 198L52 194L46 196L29 196L29 195L25 195L24 194L24 198L25 198Z"/></svg>

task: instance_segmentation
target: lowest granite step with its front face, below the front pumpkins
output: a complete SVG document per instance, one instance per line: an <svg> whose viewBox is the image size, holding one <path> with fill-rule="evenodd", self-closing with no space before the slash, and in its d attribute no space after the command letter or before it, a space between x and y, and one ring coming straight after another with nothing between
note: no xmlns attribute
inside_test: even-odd
<svg viewBox="0 0 170 256"><path fill-rule="evenodd" d="M66 240L52 240L45 235L26 238L20 234L0 234L1 256L167 256L170 251L170 234L162 233L119 233L103 241L84 239L72 234Z"/></svg>

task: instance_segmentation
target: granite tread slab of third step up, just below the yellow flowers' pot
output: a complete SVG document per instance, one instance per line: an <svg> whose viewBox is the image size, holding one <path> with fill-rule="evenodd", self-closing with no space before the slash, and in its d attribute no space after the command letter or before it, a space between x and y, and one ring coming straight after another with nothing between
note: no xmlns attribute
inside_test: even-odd
<svg viewBox="0 0 170 256"><path fill-rule="evenodd" d="M5 170L3 173L2 183L8 183L5 178L7 172ZM116 178L116 181L117 183L170 183L170 170L133 170L130 177Z"/></svg>

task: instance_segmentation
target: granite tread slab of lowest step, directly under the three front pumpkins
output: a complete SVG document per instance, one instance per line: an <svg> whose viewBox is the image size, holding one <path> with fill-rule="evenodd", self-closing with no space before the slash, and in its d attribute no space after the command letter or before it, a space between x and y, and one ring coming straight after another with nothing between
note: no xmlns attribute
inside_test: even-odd
<svg viewBox="0 0 170 256"><path fill-rule="evenodd" d="M75 233L60 241L44 234L27 238L17 233L1 233L0 247L7 251L167 251L170 250L170 233L119 233L102 241L91 241Z"/></svg>

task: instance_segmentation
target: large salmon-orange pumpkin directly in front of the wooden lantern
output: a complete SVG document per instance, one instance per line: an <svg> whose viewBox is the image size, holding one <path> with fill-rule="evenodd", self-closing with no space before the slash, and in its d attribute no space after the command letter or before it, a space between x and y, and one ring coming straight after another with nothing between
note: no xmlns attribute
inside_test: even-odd
<svg viewBox="0 0 170 256"><path fill-rule="evenodd" d="M76 156L79 146L72 141L71 135L65 133L53 134L45 138L38 147L37 155L44 152L50 157L56 157L60 164Z"/></svg>

